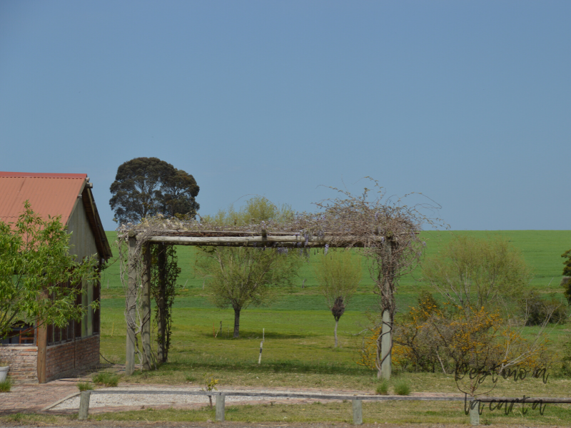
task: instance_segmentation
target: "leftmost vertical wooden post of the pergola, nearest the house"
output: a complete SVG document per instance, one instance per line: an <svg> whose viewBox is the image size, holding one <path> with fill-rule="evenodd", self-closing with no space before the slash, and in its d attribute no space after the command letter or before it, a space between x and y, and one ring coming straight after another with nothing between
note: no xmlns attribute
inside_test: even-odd
<svg viewBox="0 0 571 428"><path fill-rule="evenodd" d="M125 357L125 374L131 376L135 371L135 322L136 322L136 301L137 301L137 272L136 272L136 245L134 236L129 237L128 249L128 287L125 302L125 318L127 322L127 347Z"/></svg>

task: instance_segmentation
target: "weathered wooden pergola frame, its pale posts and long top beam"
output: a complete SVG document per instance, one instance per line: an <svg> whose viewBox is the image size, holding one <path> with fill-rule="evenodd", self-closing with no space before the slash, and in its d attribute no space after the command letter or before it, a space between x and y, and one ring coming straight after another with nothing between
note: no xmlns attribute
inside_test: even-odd
<svg viewBox="0 0 571 428"><path fill-rule="evenodd" d="M141 234L144 235L141 236ZM138 236L144 240L145 245L137 245ZM126 295L126 318L134 319L136 314L136 298L137 298L137 261L143 263L141 272L142 302L141 311L144 320L141 328L141 341L143 343L143 368L150 369L151 361L148 356L151 355L151 250L149 244L162 245L209 245L209 246L228 246L228 247L251 247L251 248L314 248L325 247L330 248L347 248L347 247L367 247L371 243L355 242L354 237L346 236L338 239L333 235L308 236L300 233L291 232L261 232L251 231L218 231L218 230L161 230L160 232L151 232L149 235L146 230L130 230L128 232L128 290ZM376 236L377 243L391 243L380 236ZM391 251L392 245L383 245L385 250ZM143 254L138 254L143 252ZM159 260L161 263L161 260ZM383 312L383 332L385 332L385 321L392 325L392 321L388 318L388 314ZM386 318L386 320L385 320ZM388 332L388 328L387 328ZM390 347L390 337L383 334L383 350ZM385 344L385 341L386 344ZM390 351L389 351L390 352ZM384 354L384 352L383 352ZM135 370L136 355L136 329L135 326L127 322L127 343L126 343L126 374L133 374ZM390 376L390 355L383 359L383 372Z"/></svg>

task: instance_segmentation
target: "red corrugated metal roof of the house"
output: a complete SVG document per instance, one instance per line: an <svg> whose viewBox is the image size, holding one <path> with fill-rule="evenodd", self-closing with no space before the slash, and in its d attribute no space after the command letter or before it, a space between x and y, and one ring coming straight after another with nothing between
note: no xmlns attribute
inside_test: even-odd
<svg viewBox="0 0 571 428"><path fill-rule="evenodd" d="M61 215L67 224L87 174L8 173L0 171L0 220L14 223L24 201L42 218Z"/></svg>

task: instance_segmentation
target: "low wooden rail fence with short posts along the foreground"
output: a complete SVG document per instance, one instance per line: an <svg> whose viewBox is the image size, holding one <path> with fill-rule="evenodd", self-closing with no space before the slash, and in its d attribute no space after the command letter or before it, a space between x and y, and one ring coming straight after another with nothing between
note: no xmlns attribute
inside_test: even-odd
<svg viewBox="0 0 571 428"><path fill-rule="evenodd" d="M470 423L473 425L480 424L480 403L485 402L537 402L547 403L571 403L571 397L566 398L550 398L550 397L410 397L410 396L387 396L387 395L338 395L338 394L291 394L286 392L208 392L208 391L157 391L153 390L95 390L82 391L79 400L78 419L87 419L89 414L89 401L91 394L157 394L157 395L205 395L216 397L216 421L223 422L225 419L226 397L285 397L285 398L308 398L308 399L340 399L351 400L353 404L353 424L363 424L363 401L463 401L470 402ZM474 403L473 403L474 402ZM477 402L477 405L476 403Z"/></svg>

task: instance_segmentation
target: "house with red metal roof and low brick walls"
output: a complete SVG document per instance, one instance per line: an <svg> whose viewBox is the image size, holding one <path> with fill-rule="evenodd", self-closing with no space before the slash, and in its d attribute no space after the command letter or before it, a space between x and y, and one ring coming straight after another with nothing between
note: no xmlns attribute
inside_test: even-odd
<svg viewBox="0 0 571 428"><path fill-rule="evenodd" d="M29 200L34 212L46 219L61 216L71 233L70 253L78 260L97 255L98 269L111 258L111 247L103 230L86 174L0 172L0 220L15 223ZM88 308L79 322L66 327L15 325L0 345L0 359L10 363L13 382L49 382L94 367L99 362L101 312L91 302L100 298L101 284L84 285L77 305Z"/></svg>

